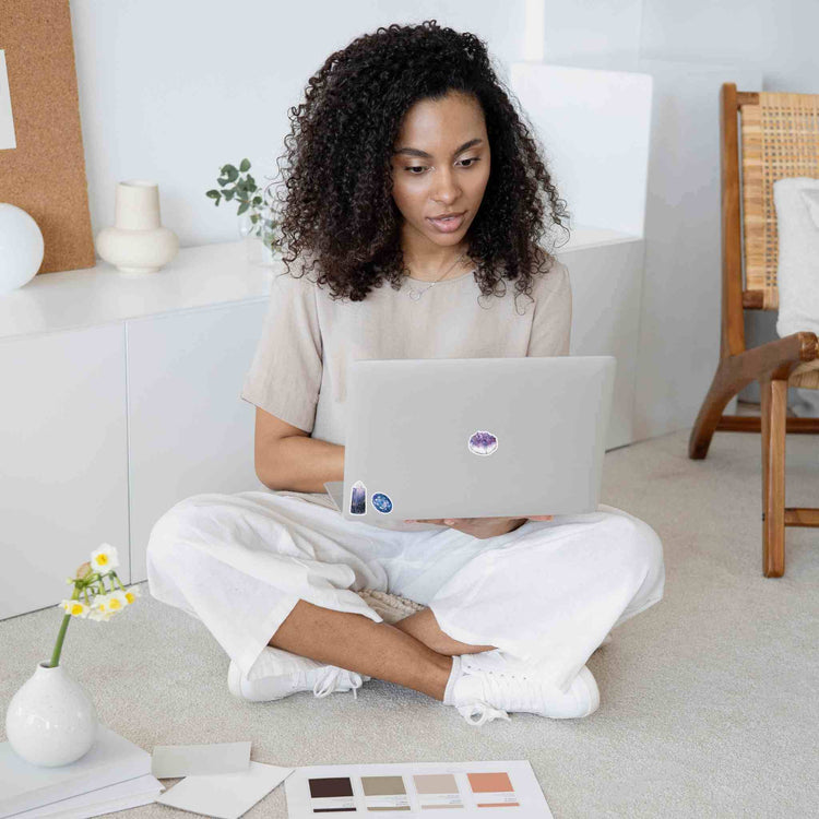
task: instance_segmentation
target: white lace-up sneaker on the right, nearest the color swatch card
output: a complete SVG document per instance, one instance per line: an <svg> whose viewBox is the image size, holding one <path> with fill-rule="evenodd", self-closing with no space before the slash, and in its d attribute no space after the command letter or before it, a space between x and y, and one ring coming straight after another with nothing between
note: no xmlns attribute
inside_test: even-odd
<svg viewBox="0 0 819 819"><path fill-rule="evenodd" d="M507 711L570 720L594 713L600 707L600 690L586 666L563 693L544 681L536 669L503 658L496 649L452 657L443 702L454 705L472 725L509 720ZM473 720L473 715L478 719Z"/></svg>

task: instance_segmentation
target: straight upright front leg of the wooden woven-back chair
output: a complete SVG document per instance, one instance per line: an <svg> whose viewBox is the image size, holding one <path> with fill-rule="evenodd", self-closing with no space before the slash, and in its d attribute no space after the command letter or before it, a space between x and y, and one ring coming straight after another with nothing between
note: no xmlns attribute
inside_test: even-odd
<svg viewBox="0 0 819 819"><path fill-rule="evenodd" d="M785 573L785 429L787 381L761 379L762 573Z"/></svg>

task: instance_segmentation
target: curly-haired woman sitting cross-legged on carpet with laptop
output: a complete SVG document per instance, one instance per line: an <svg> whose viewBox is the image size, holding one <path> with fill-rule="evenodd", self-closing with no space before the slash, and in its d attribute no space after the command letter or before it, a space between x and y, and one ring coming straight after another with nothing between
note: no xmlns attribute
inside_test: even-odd
<svg viewBox="0 0 819 819"><path fill-rule="evenodd" d="M289 254L241 392L271 491L177 503L151 534L150 591L211 630L239 697L377 677L478 725L585 716L586 660L663 595L648 524L601 506L381 529L323 487L344 476L349 361L568 355L568 271L539 242L567 214L538 145L484 44L436 21L333 54L290 118ZM425 607L389 625L364 589Z"/></svg>

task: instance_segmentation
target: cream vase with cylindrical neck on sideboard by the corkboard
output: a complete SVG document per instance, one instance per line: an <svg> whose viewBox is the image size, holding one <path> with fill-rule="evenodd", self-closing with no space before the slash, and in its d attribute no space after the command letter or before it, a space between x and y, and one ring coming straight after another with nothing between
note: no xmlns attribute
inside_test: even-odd
<svg viewBox="0 0 819 819"><path fill-rule="evenodd" d="M174 259L179 238L161 224L156 182L117 182L115 225L97 234L96 248L105 261L129 275L156 273Z"/></svg>

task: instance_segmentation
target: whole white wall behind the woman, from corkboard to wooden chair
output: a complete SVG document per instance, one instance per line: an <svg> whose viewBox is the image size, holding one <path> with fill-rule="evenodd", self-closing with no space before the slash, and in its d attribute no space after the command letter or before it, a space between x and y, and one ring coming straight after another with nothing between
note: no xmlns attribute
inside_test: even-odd
<svg viewBox="0 0 819 819"><path fill-rule="evenodd" d="M819 92L815 0L73 0L71 14L94 232L116 181L155 178L182 246L236 237L235 206L204 195L219 166L248 156L258 181L274 178L307 79L379 25L472 31L508 80L538 55L529 20L545 62L651 74L638 438L690 427L716 366L720 84ZM752 343L774 337L770 319L749 319Z"/></svg>

